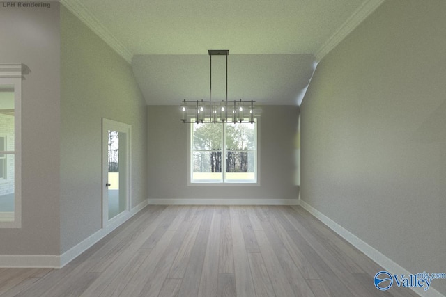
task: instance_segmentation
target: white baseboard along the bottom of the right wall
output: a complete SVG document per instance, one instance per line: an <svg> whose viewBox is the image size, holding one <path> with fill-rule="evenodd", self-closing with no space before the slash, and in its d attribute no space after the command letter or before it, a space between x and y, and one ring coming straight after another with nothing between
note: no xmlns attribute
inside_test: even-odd
<svg viewBox="0 0 446 297"><path fill-rule="evenodd" d="M390 272L391 274L404 274L404 275L410 275L411 273L407 271L405 268L399 266L399 264L392 261L392 259L389 259L385 255L383 255L381 252L370 246L367 242L362 241L362 239L359 239L355 234L349 232L344 227L339 225L338 223L334 222L331 218L328 218L328 216L325 216L325 214L322 214L320 211L312 207L307 202L301 200L300 206L303 207L305 210L307 210L310 214L315 216L318 220L321 220L322 223L327 225L331 230L339 234L343 239L351 243L355 248L363 252L367 257L372 259L374 262L376 262L379 266L383 267L386 271ZM379 271L376 271L378 273ZM417 271L418 273L419 271ZM440 292L436 291L436 289L433 289L432 287L429 288L429 290L424 291L423 289L416 289L416 288L410 288L415 291L415 293L420 294L421 296L429 296L429 297L440 297L443 296L443 294L440 294Z"/></svg>

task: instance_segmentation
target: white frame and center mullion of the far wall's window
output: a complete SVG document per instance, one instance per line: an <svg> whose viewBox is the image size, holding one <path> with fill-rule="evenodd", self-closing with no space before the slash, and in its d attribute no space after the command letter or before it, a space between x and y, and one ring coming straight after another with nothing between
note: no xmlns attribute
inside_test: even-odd
<svg viewBox="0 0 446 297"><path fill-rule="evenodd" d="M226 179L226 145L225 145L225 131L226 131L226 124L231 124L231 122L224 122L224 123L206 123L206 124L200 124L200 125L224 125L223 131L222 131L222 179L216 179L216 180L210 180L210 179L193 179L193 156L192 153L194 150L192 150L192 144L193 144L193 123L190 124L188 131L188 141L187 141L187 160L188 160L188 172L189 172L189 179L188 179L188 185L194 186L203 186L203 185L218 185L218 186L235 186L235 185L247 185L247 186L259 186L259 118L254 118L254 124L255 126L255 156L254 156L254 180L253 179ZM249 150L248 150L249 151Z"/></svg>

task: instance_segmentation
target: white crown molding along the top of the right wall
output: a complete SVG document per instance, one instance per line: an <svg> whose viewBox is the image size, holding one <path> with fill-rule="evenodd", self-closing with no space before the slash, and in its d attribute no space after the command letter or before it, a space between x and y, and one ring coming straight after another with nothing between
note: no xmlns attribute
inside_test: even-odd
<svg viewBox="0 0 446 297"><path fill-rule="evenodd" d="M342 24L336 32L325 42L325 44L316 51L316 61L321 61L322 58L328 54L339 42L344 40L364 19L378 8L385 0L369 0L362 3L362 6L357 8L353 15L351 15L344 24Z"/></svg>

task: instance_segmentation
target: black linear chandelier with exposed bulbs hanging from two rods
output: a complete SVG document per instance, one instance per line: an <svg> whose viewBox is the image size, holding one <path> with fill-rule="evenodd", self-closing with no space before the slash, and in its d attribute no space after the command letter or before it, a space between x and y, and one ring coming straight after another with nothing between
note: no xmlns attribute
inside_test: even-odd
<svg viewBox="0 0 446 297"><path fill-rule="evenodd" d="M229 49L209 49L209 100L186 100L181 103L181 121L184 123L250 122L254 123L253 100L228 101ZM212 56L226 56L226 101L212 101Z"/></svg>

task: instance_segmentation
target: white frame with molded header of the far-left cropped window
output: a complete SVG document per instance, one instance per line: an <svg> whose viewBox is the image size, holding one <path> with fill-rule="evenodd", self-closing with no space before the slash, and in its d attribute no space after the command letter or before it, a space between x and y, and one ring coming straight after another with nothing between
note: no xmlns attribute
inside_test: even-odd
<svg viewBox="0 0 446 297"><path fill-rule="evenodd" d="M0 213L0 228L22 227L22 63L0 63L0 86L14 88L14 212ZM12 220L11 220L12 218Z"/></svg>

